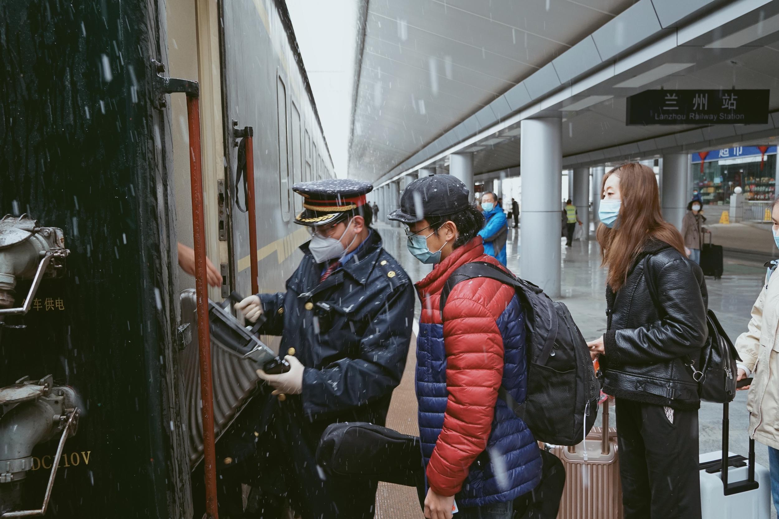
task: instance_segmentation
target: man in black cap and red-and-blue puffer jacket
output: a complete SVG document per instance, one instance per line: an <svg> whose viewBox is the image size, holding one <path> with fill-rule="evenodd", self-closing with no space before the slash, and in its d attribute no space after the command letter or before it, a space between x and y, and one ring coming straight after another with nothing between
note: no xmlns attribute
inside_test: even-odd
<svg viewBox="0 0 779 519"><path fill-rule="evenodd" d="M407 224L408 249L435 265L416 286L421 301L416 390L425 462L425 517L510 519L513 500L541 479L530 429L499 398L527 395L524 313L514 289L487 278L456 284L443 320L443 285L460 265L486 261L484 217L451 175L411 182L391 220Z"/></svg>

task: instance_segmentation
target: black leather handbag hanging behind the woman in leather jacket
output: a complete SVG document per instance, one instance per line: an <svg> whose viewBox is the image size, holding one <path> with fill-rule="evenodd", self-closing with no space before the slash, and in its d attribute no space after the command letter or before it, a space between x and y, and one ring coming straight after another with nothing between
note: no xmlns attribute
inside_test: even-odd
<svg viewBox="0 0 779 519"><path fill-rule="evenodd" d="M728 404L735 398L735 379L738 373L735 362L741 358L711 310L706 313L706 322L709 337L700 351L700 358L697 362L687 358L685 364L693 370L693 378L698 383L698 394L702 401Z"/></svg>

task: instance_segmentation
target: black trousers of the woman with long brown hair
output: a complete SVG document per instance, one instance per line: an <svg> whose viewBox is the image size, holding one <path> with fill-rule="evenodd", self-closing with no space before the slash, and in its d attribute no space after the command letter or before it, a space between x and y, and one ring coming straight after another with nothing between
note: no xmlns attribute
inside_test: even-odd
<svg viewBox="0 0 779 519"><path fill-rule="evenodd" d="M700 519L698 411L616 399L625 519Z"/></svg>

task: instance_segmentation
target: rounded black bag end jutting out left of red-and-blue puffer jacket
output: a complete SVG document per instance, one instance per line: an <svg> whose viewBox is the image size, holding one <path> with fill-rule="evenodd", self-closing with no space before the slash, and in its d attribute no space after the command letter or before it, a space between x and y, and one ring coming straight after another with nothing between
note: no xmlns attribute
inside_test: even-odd
<svg viewBox="0 0 779 519"><path fill-rule="evenodd" d="M316 448L316 462L325 471L398 485L424 483L418 436L367 422L329 425Z"/></svg>

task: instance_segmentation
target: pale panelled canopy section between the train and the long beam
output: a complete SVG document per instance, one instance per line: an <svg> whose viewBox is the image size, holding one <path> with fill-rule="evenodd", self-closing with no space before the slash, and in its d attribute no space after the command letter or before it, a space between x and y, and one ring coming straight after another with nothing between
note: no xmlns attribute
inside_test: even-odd
<svg viewBox="0 0 779 519"><path fill-rule="evenodd" d="M529 101L523 85L509 90L633 3L370 0L349 175L375 180L457 125L470 136L480 110L507 115Z"/></svg>

